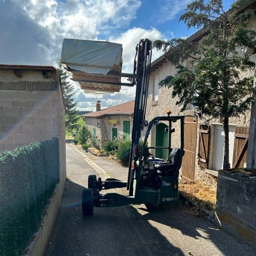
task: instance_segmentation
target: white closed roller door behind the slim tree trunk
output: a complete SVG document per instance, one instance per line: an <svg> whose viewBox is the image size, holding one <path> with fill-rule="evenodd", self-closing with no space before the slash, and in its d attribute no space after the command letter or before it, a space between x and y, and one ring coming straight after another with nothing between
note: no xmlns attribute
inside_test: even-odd
<svg viewBox="0 0 256 256"><path fill-rule="evenodd" d="M236 126L229 125L229 163L232 166L233 162L233 150L235 140L235 128ZM222 125L215 126L215 143L214 143L214 164L213 169L221 170L223 167L223 155L224 155L224 131Z"/></svg>

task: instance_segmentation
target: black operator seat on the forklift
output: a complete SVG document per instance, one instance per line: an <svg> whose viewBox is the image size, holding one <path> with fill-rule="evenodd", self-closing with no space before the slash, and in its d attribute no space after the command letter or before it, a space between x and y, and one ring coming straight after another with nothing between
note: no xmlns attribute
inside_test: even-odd
<svg viewBox="0 0 256 256"><path fill-rule="evenodd" d="M155 164L158 173L170 174L179 164L180 149L174 148L169 156L169 161L164 163Z"/></svg>

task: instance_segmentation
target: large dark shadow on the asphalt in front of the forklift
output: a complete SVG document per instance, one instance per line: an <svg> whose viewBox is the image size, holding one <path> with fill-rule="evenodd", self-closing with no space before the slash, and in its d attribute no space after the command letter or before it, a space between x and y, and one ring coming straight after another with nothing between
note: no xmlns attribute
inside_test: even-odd
<svg viewBox="0 0 256 256"><path fill-rule="evenodd" d="M67 181L47 256L184 256L130 205L95 208L92 216L83 216L82 190Z"/></svg>

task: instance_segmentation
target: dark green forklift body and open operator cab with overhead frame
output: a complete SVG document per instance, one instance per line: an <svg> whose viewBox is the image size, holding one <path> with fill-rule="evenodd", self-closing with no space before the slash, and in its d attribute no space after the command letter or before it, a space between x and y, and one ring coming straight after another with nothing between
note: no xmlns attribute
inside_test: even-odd
<svg viewBox="0 0 256 256"><path fill-rule="evenodd" d="M169 144L168 147L146 147L147 139L149 137L150 131L153 125L157 124L159 121L167 121L169 122ZM180 121L180 148L171 148L171 139L172 133L175 131L172 129L172 122ZM134 184L134 194L135 197L143 197L145 191L151 191L153 195L153 191L157 195L151 200L149 196L145 196L144 203L147 208L151 208L153 206L158 207L159 204L163 203L177 203L178 202L178 179L179 179L179 169L182 162L183 156L183 129L184 129L184 117L183 116L162 116L155 117L148 126L148 130L146 132L145 141L143 143L139 160L137 161L136 166L137 169L135 173L139 175L134 176L134 180L136 184ZM169 158L168 159L160 159L154 158L153 154L149 153L150 149L166 149L169 150ZM141 170L140 170L141 169ZM139 182L139 185L138 185ZM142 199L142 198L141 198Z"/></svg>

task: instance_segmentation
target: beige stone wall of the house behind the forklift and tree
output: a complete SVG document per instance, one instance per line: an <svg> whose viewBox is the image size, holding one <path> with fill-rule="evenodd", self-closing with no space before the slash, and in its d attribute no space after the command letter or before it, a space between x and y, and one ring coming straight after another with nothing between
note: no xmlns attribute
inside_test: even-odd
<svg viewBox="0 0 256 256"><path fill-rule="evenodd" d="M250 22L251 27L256 28L256 23L254 22L256 18L252 19ZM251 58L252 61L256 60L255 54ZM175 103L178 100L178 97L172 98L172 89L168 87L159 87L158 90L158 100L153 100L153 91L154 91L154 77L159 76L159 81L162 81L166 76L175 75L177 70L172 65L170 61L163 63L162 66L158 67L158 69L152 71L150 73L150 79L149 79L149 89L148 89L148 101L147 101L147 112L146 112L146 119L150 121L156 116L166 116L166 110L170 109L172 110L172 115L192 115L195 111L195 109L188 109L181 112L181 107L177 106ZM245 70L242 76L253 76L254 70ZM198 131L199 131L199 124L209 124L211 126L211 133L210 133L210 154L209 154L209 169L212 169L213 167L213 160L214 160L214 131L215 131L215 125L221 124L220 121L216 118L209 118L209 117L203 117L202 120L198 119ZM249 126L250 125L250 110L247 110L244 115L236 116L236 117L230 117L229 118L229 124L234 126ZM180 128L178 125L174 125L175 127L175 133L173 133L172 138L172 147L179 147L179 133ZM197 132L197 149L196 149L196 155L198 153L198 138L199 133ZM155 127L153 127L153 130L151 131L151 134L148 139L149 146L155 146ZM201 168L197 164L197 159L195 159L196 162L196 173L195 177L196 180L204 180L209 183L215 182L215 178L212 177L209 173L212 173L211 170L207 170L204 168ZM181 169L182 172L182 169Z"/></svg>

